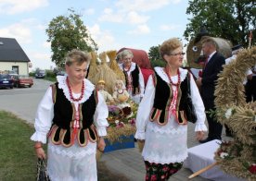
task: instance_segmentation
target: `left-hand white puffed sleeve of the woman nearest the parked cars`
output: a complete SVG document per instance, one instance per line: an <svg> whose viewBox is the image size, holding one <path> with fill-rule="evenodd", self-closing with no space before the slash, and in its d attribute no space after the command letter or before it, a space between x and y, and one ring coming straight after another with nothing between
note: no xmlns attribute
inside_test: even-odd
<svg viewBox="0 0 256 181"><path fill-rule="evenodd" d="M34 121L35 133L31 137L33 141L46 143L47 133L50 130L54 116L53 107L52 88L49 87L45 92L45 96L37 107Z"/></svg>

